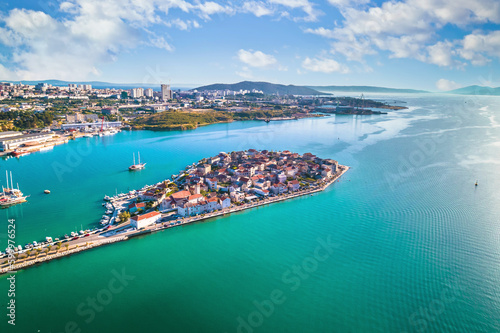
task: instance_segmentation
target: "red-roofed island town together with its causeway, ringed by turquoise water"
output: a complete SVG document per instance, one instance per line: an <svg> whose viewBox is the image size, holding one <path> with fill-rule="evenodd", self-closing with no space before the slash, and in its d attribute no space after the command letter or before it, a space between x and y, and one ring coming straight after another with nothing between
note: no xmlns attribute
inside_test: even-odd
<svg viewBox="0 0 500 333"><path fill-rule="evenodd" d="M105 196L93 229L9 246L0 274L181 225L325 190L349 167L312 153L248 149L204 158L155 185ZM11 181L12 184L12 181Z"/></svg>

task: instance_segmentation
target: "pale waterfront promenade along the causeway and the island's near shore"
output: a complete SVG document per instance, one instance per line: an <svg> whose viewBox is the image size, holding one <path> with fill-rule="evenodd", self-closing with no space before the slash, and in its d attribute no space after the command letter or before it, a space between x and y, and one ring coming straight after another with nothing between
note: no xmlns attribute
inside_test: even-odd
<svg viewBox="0 0 500 333"><path fill-rule="evenodd" d="M328 186L332 185L335 181L337 181L349 169L350 168L348 166L339 165L339 172L334 174L332 177L325 179L323 182L321 182L316 186L303 190L298 190L296 192L284 193L271 198L261 199L260 201L257 202L241 204L239 206L233 205L231 207L222 210L218 210L211 213L205 213L198 216L179 218L177 220L168 222L158 222L156 224L145 227L141 230L131 229L128 223L125 225L115 226L99 234L92 234L89 237L80 237L77 240L66 241L64 242L64 246L60 246L55 250L49 249L48 247L42 247L42 249L48 250L44 255L37 254L35 257L27 256L26 258L16 259L12 263L12 265L9 265L7 259L3 258L2 263L0 263L0 275L8 274L10 272L15 272L36 264L47 262L53 259L62 258L64 256L68 256L71 254L80 253L82 251L90 250L102 245L108 245L120 241L125 241L136 235L143 235L143 234L147 235L152 232L161 231L190 223L195 223L213 217L224 216L226 214L236 213L246 209L251 209L275 202L285 201L304 195L312 195L314 193L324 191ZM128 230L128 231L123 231L123 230ZM42 252L44 251L43 250L40 251L40 253Z"/></svg>

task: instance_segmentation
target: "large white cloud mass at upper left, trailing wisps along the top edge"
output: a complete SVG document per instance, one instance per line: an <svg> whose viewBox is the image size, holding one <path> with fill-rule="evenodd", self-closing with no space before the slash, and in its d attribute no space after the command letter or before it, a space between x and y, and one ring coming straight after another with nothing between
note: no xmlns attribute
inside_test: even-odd
<svg viewBox="0 0 500 333"><path fill-rule="evenodd" d="M150 31L150 26L163 23L189 30L200 24L195 19L166 20L165 14L171 9L206 20L217 13L234 12L229 5L184 0L66 0L54 7L64 13L59 17L58 13L50 16L13 9L0 15L0 43L11 48L9 77L86 79L99 75L102 64L115 61L121 52L138 45L172 51L167 36L152 33L156 29Z"/></svg>

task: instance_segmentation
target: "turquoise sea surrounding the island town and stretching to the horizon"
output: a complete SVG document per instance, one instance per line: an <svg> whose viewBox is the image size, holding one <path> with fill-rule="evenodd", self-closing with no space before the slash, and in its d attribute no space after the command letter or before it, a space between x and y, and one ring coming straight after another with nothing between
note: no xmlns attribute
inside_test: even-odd
<svg viewBox="0 0 500 333"><path fill-rule="evenodd" d="M15 297L3 276L0 332L500 331L500 100L366 97L409 109L121 132L0 161L0 184L12 171L31 195L0 211L2 250L9 218L21 245L92 227L105 194L220 151L289 149L352 167L314 196L20 271ZM130 173L137 151L146 169Z"/></svg>

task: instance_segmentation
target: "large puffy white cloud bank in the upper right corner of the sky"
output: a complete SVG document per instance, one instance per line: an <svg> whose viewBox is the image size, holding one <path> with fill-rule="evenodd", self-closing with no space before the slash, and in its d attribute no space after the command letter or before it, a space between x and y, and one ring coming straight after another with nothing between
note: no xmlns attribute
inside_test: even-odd
<svg viewBox="0 0 500 333"><path fill-rule="evenodd" d="M349 60L362 61L365 55L374 54L378 49L391 52L393 58L463 67L465 63L458 58L473 65L484 65L488 57L500 54L498 31L471 34L462 41L439 40L440 29L447 24L466 28L476 23L500 23L497 0L386 1L380 6L362 9L348 5L367 3L364 0L329 1L340 8L344 16L342 25L304 32L334 39L332 52L344 54Z"/></svg>

